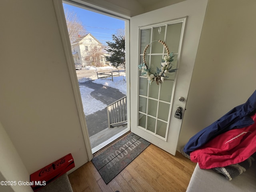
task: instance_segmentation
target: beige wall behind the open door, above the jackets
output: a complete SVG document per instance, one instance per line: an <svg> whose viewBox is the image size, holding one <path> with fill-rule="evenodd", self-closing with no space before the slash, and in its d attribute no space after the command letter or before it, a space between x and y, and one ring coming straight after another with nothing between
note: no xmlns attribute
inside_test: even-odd
<svg viewBox="0 0 256 192"><path fill-rule="evenodd" d="M255 7L209 0L177 150L256 89Z"/></svg>

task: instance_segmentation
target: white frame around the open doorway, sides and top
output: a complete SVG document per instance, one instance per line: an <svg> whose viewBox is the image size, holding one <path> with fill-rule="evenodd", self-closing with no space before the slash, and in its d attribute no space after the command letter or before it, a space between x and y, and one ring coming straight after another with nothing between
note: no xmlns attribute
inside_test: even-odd
<svg viewBox="0 0 256 192"><path fill-rule="evenodd" d="M68 2L68 0L66 0L65 2ZM68 64L68 72L69 72L69 76L70 76L70 81L72 84L72 88L73 88L73 92L74 92L74 98L76 101L76 107L78 110L78 116L79 116L79 120L80 120L80 124L81 124L81 129L82 129L82 134L83 134L83 138L84 138L84 144L86 147L86 153L88 156L88 160L92 160L93 156L92 156L92 148L91 148L91 144L90 144L90 137L88 134L88 129L86 126L86 120L85 120L85 116L84 116L84 109L83 109L83 105L82 105L82 99L81 99L81 94L80 94L80 89L79 89L79 85L78 85L78 79L76 76L76 71L74 68L74 60L73 60L73 56L72 56L72 50L71 50L71 46L70 46L70 41L69 41L69 35L68 35L68 29L66 26L66 19L65 19L65 15L64 15L64 10L63 10L63 6L62 6L62 1L60 0L53 0L53 4L54 4L54 9L56 12L56 18L57 18L57 22L58 22L58 26L59 26L59 30L60 30L60 36L62 39L62 43L63 43L63 48L64 48L64 53L66 56L66 61ZM70 4L80 4L80 6L82 8L86 8L88 10L92 10L94 12L98 12L100 14L105 14L108 16L114 16L118 19L122 19L125 20L125 32L126 34L129 34L129 22L130 22L130 17L128 16L124 16L122 14L117 14L115 12L112 12L110 10L106 10L104 8L100 8L98 6L94 6L92 4L88 4L86 2L83 2L81 0L75 0L70 2ZM126 84L127 84L127 99L130 100L130 88L129 88L129 84L130 84L130 52L129 52L129 36L126 36L125 39L125 48L126 48L126 63L128 64L128 66L126 67L126 74L128 74L126 76ZM130 102L129 102L130 103ZM128 128L130 128L130 105L127 106L127 118L128 118Z"/></svg>

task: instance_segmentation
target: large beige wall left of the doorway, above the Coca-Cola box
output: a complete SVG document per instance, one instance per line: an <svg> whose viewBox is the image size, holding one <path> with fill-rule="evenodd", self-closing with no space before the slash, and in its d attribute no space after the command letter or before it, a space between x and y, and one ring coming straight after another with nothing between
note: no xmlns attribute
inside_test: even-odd
<svg viewBox="0 0 256 192"><path fill-rule="evenodd" d="M0 122L29 174L68 153L78 168L88 156L52 0L3 0L0 18Z"/></svg>

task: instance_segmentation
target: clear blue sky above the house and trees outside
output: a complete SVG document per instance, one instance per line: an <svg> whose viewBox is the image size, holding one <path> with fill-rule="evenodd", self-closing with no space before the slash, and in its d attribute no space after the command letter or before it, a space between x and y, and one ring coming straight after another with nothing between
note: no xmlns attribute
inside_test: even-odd
<svg viewBox="0 0 256 192"><path fill-rule="evenodd" d="M69 10L74 10L81 20L82 25L86 28L86 31L91 33L102 44L106 44L106 41L112 41L112 34L115 34L117 29L124 29L124 20L64 3L63 6L68 7Z"/></svg>

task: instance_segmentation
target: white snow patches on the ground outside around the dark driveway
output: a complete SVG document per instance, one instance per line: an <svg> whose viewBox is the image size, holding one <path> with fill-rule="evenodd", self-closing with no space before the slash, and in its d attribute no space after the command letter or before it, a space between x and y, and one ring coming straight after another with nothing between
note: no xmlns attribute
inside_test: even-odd
<svg viewBox="0 0 256 192"><path fill-rule="evenodd" d="M102 68L95 68L95 67L90 67L90 68L86 68L89 70L102 70ZM104 70L106 69L106 67L104 67ZM110 67L110 70L113 70L112 67ZM114 76L113 77L113 82L111 80L111 78L106 78L106 79L97 79L97 75L95 76L90 76L89 78L81 78L80 80L78 80L79 83L83 83L89 80L93 80L94 83L97 84L102 84L105 86L109 86L115 89L118 89L120 92L122 92L123 94L127 94L126 92L126 76L124 72L120 73L120 76ZM96 100L95 98L93 98L90 93L92 91L94 91L91 88L87 88L85 86L79 86L80 88L80 93L81 93L81 98L82 98L82 103L83 103L83 107L84 107L84 114L85 115L90 115L93 114L96 111L102 110L104 108L106 108L106 104L102 103L99 100Z"/></svg>

